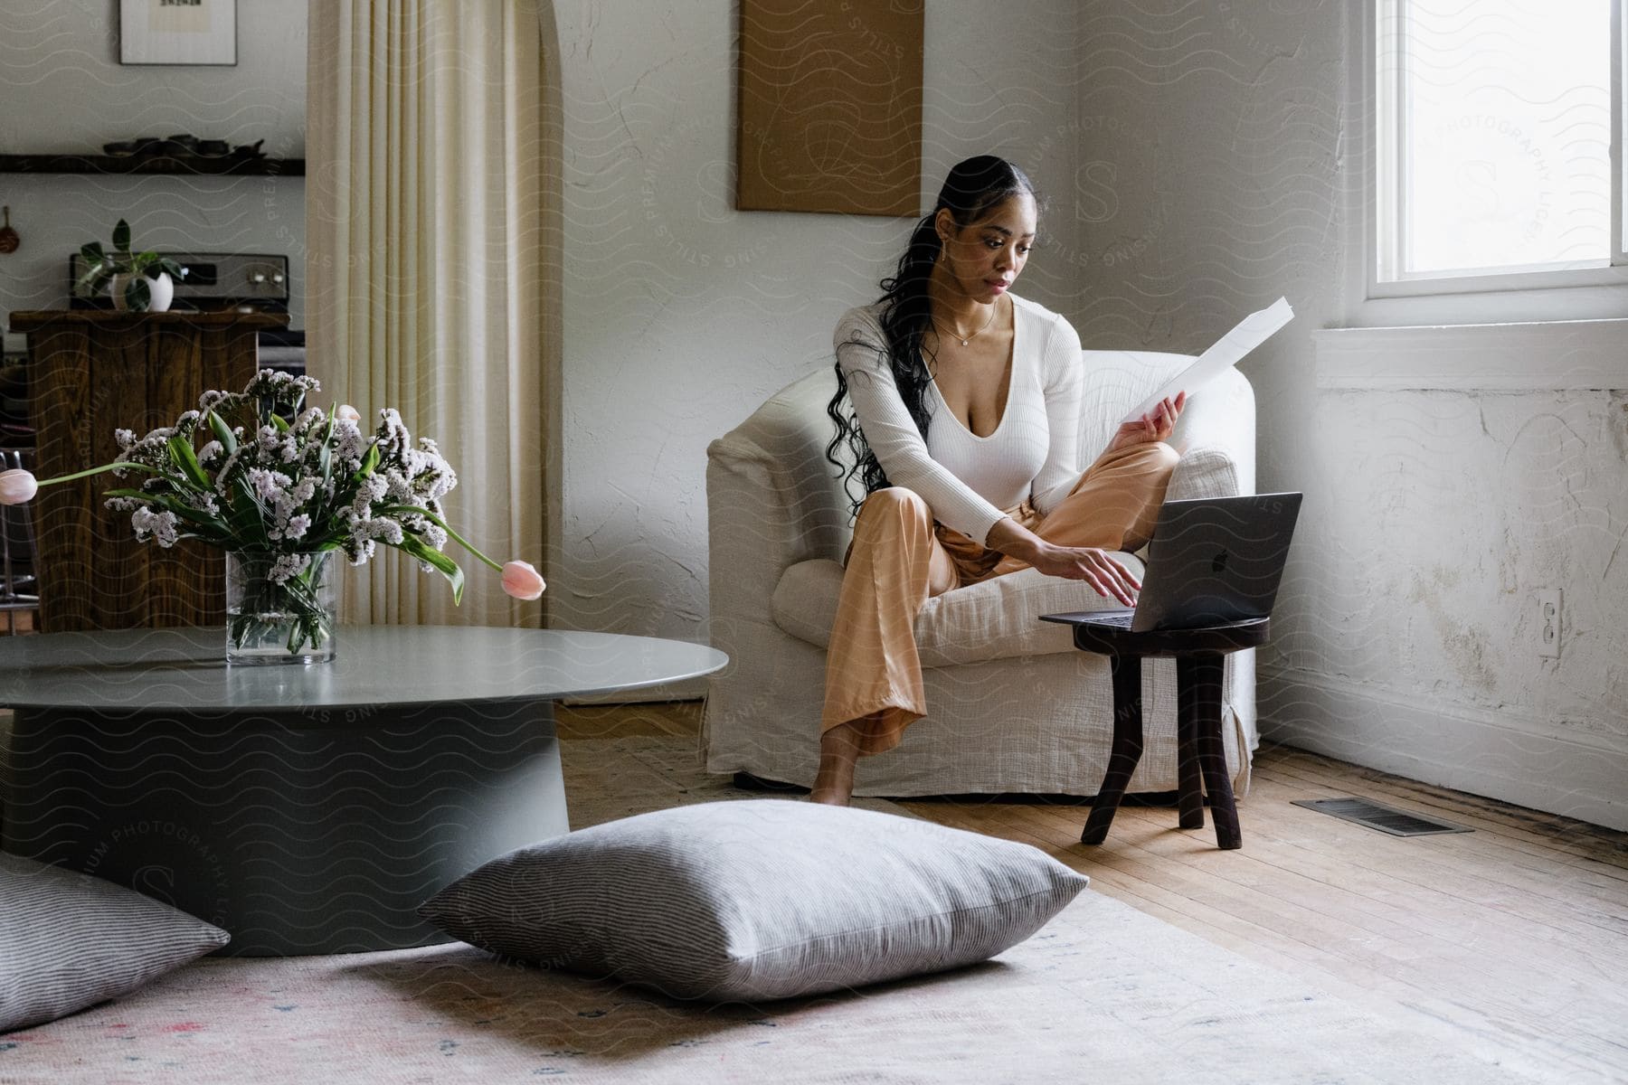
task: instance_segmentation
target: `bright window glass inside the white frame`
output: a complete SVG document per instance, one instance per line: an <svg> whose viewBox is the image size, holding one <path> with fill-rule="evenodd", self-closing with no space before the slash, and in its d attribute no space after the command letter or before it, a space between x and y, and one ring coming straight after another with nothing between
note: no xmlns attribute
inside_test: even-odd
<svg viewBox="0 0 1628 1085"><path fill-rule="evenodd" d="M1372 293L1621 281L1625 2L1374 0Z"/></svg>

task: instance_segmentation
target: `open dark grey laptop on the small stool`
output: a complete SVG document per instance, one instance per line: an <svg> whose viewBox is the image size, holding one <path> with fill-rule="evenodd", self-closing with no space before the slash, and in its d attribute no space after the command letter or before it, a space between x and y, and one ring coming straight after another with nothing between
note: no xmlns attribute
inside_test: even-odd
<svg viewBox="0 0 1628 1085"><path fill-rule="evenodd" d="M1081 610L1040 620L1149 633L1267 618L1299 514L1298 493L1166 501L1148 543L1148 568L1135 608Z"/></svg>

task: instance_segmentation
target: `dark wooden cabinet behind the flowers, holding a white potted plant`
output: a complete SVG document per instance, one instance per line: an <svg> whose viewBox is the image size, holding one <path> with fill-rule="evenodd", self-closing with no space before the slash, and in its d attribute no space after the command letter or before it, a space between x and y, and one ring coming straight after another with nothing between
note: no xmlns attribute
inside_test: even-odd
<svg viewBox="0 0 1628 1085"><path fill-rule="evenodd" d="M28 333L34 473L67 475L112 460L116 429L173 425L207 389L254 376L257 333L287 327L272 312L13 312ZM103 491L135 486L111 473L47 486L34 498L41 630L120 630L225 621L220 551L187 542L137 543L129 512Z"/></svg>

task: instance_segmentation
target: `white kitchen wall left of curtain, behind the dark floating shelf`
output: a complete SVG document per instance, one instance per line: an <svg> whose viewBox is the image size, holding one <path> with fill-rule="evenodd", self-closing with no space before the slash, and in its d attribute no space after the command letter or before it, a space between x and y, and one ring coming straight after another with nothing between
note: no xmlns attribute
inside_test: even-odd
<svg viewBox="0 0 1628 1085"><path fill-rule="evenodd" d="M0 3L0 151L101 153L138 137L265 140L304 155L304 0L238 5L236 67L119 63L114 0ZM0 312L60 309L68 255L107 244L119 218L142 249L274 252L293 264L293 327L304 327L303 177L0 174L21 247L0 255Z"/></svg>

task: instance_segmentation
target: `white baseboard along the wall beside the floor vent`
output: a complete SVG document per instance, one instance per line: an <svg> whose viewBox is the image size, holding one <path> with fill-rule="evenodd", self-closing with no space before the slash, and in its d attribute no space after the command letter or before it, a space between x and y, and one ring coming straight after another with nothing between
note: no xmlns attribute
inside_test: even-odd
<svg viewBox="0 0 1628 1085"><path fill-rule="evenodd" d="M1268 665L1258 712L1263 742L1628 830L1628 750L1604 735Z"/></svg>

